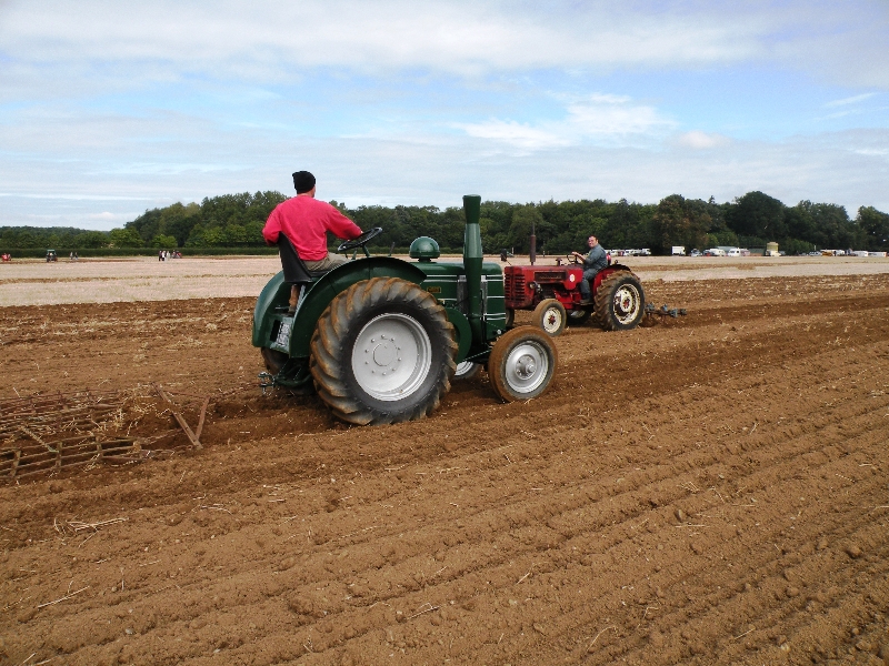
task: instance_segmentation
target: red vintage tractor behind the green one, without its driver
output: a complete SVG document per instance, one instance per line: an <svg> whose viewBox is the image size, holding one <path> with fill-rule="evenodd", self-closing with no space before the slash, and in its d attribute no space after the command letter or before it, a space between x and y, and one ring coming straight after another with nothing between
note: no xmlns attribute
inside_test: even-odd
<svg viewBox="0 0 889 666"><path fill-rule="evenodd" d="M570 260L569 260L570 261ZM566 324L582 324L596 314L606 331L635 329L642 321L646 294L639 278L617 262L599 271L592 287L592 303L581 305L580 281L583 265L523 265L503 269L507 325L516 310L533 310L535 324L551 336Z"/></svg>

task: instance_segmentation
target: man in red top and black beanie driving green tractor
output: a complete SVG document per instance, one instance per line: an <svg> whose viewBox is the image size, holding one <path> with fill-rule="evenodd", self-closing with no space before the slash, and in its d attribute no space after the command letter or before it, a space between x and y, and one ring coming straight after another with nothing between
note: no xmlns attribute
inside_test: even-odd
<svg viewBox="0 0 889 666"><path fill-rule="evenodd" d="M293 174L297 195L279 203L266 221L262 235L269 245L278 242L283 233L310 271L329 271L348 260L342 254L327 251L327 232L337 238L352 240L361 235L361 229L324 201L314 198L314 176L308 171Z"/></svg>

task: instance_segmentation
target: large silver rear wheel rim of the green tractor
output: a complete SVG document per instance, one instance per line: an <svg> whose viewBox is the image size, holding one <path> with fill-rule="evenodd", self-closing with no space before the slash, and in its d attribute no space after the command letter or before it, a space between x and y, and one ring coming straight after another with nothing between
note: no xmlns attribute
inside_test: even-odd
<svg viewBox="0 0 889 666"><path fill-rule="evenodd" d="M422 325L407 314L370 320L352 347L352 373L371 397L391 402L408 397L429 375L432 344Z"/></svg>

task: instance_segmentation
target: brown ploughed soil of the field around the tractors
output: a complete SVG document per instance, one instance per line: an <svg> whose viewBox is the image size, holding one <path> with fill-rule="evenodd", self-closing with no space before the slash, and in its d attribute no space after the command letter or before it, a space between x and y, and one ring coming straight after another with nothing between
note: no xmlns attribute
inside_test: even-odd
<svg viewBox="0 0 889 666"><path fill-rule="evenodd" d="M4 404L121 392L143 460L2 482L0 663L889 664L889 275L646 286L382 427L262 395L251 299L1 309Z"/></svg>

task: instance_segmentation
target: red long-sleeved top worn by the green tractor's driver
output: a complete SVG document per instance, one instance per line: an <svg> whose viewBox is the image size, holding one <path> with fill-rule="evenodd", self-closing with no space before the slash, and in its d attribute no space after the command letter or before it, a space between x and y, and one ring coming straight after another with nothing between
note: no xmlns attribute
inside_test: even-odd
<svg viewBox="0 0 889 666"><path fill-rule="evenodd" d="M327 256L328 231L347 240L361 235L361 229L349 218L326 201L311 196L293 196L276 206L262 228L262 235L268 242L277 243L281 231L303 261L321 261Z"/></svg>

